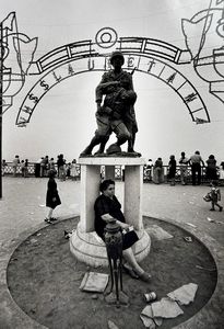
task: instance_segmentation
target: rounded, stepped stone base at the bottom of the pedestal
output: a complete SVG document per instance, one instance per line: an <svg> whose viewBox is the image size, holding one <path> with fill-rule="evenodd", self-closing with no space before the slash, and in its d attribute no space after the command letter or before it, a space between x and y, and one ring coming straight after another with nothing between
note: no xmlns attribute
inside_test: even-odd
<svg viewBox="0 0 224 329"><path fill-rule="evenodd" d="M150 252L151 239L148 232L142 229L137 231L139 241L133 246L133 252L138 262L141 262ZM80 223L76 230L70 237L71 253L81 262L91 266L108 266L106 247L104 241L95 231L82 232Z"/></svg>

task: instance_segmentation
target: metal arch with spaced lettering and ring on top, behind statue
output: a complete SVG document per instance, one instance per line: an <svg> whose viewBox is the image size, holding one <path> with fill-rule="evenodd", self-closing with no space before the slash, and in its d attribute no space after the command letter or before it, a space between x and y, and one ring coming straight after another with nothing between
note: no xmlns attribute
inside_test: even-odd
<svg viewBox="0 0 224 329"><path fill-rule="evenodd" d="M102 53L98 48L110 49ZM58 47L33 63L30 75L42 77L25 97L16 125L26 126L42 98L56 84L67 78L86 71L105 71L110 69L109 55L119 49L125 55L123 69L149 73L169 86L181 98L196 123L209 123L210 116L203 100L192 83L176 68L168 65L189 64L188 50L181 50L168 43L145 37L120 37L110 27L104 27L96 34L95 43L91 39L71 43ZM162 60L164 59L164 60ZM194 113L200 112L200 118Z"/></svg>

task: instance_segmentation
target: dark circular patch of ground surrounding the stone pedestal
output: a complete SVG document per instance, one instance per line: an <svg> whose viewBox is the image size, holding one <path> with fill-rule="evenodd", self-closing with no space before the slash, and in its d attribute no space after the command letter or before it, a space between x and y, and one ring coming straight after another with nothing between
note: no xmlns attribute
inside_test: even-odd
<svg viewBox="0 0 224 329"><path fill-rule="evenodd" d="M142 266L152 274L152 282L144 283L123 274L123 291L130 303L120 308L108 306L103 294L94 296L81 292L79 286L87 270L101 273L109 273L109 270L90 269L70 253L63 230L75 228L78 222L75 217L46 226L24 240L9 261L10 293L21 309L37 322L54 329L105 329L111 320L119 329L143 329L140 314L146 306L144 293L154 291L161 299L184 284L198 284L194 302L181 306L184 315L163 320L160 328L169 329L196 315L212 296L217 273L208 249L186 230L151 217L144 217L145 229L152 234L152 247ZM173 238L161 239L163 237L155 234L156 227Z"/></svg>

